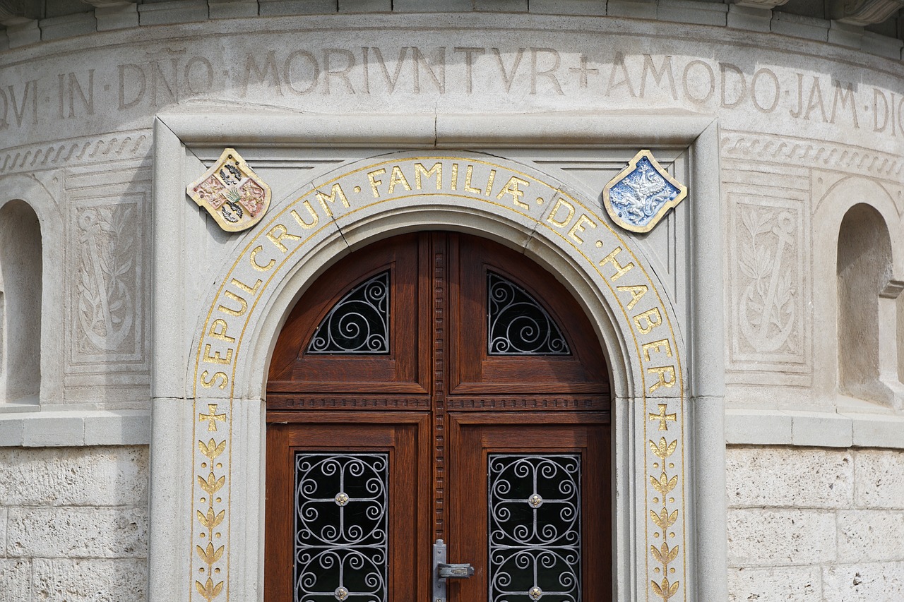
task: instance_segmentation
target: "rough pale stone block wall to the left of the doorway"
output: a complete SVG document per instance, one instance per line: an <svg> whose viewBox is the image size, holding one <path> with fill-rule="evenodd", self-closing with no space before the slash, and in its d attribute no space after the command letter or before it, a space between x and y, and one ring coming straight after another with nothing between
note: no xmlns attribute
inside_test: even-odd
<svg viewBox="0 0 904 602"><path fill-rule="evenodd" d="M0 448L0 602L141 602L147 447Z"/></svg>

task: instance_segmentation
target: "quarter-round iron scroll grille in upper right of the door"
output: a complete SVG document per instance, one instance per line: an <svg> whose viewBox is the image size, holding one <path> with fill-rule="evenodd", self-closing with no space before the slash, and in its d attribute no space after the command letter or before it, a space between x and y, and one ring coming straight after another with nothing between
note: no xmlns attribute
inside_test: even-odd
<svg viewBox="0 0 904 602"><path fill-rule="evenodd" d="M493 272L486 275L487 353L490 355L570 355L551 315L526 290Z"/></svg>

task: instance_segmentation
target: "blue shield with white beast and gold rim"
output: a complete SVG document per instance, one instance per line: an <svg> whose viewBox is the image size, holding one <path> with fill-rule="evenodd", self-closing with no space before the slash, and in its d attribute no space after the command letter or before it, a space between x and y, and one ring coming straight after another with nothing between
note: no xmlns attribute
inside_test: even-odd
<svg viewBox="0 0 904 602"><path fill-rule="evenodd" d="M612 221L625 230L648 232L687 196L687 186L675 180L642 150L603 189L603 204Z"/></svg>

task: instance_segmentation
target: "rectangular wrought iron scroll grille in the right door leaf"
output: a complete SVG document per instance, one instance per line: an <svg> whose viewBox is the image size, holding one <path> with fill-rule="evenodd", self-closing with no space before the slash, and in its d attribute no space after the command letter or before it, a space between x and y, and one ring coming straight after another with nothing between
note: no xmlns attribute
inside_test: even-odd
<svg viewBox="0 0 904 602"><path fill-rule="evenodd" d="M490 602L580 602L580 456L491 454Z"/></svg>

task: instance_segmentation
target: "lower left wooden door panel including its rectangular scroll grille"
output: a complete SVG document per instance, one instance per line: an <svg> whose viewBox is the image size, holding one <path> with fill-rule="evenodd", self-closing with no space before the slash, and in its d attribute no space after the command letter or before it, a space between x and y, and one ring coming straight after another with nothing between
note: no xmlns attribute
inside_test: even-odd
<svg viewBox="0 0 904 602"><path fill-rule="evenodd" d="M428 415L268 419L265 599L426 599Z"/></svg>

